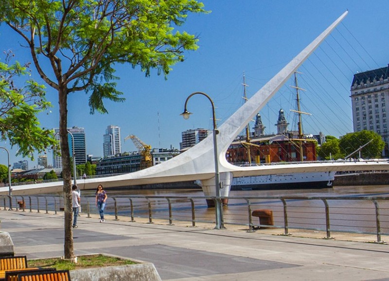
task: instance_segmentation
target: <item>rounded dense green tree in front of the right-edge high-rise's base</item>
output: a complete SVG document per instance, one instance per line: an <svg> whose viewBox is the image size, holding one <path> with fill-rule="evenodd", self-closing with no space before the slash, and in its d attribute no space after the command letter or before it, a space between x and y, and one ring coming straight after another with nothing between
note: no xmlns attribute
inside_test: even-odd
<svg viewBox="0 0 389 281"><path fill-rule="evenodd" d="M339 148L340 151L344 151L345 156L347 156L367 144L369 141L371 141L371 143L360 150L361 158L381 158L385 142L378 133L373 131L363 130L360 132L348 133L340 138ZM350 157L359 157L359 152L355 152Z"/></svg>

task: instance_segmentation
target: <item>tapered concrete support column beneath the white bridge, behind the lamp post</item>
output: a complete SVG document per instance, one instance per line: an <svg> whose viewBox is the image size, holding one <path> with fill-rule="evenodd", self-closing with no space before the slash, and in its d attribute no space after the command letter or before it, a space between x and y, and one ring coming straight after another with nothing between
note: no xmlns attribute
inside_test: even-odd
<svg viewBox="0 0 389 281"><path fill-rule="evenodd" d="M220 179L220 197L224 197L222 199L223 205L228 204L228 196L230 195L230 188L232 182L232 173L231 172L223 172L219 175ZM215 178L211 178L208 180L201 180L201 187L204 192L204 196L215 197L216 196L216 188L215 188ZM208 208L213 208L215 206L215 202L212 199L207 199Z"/></svg>

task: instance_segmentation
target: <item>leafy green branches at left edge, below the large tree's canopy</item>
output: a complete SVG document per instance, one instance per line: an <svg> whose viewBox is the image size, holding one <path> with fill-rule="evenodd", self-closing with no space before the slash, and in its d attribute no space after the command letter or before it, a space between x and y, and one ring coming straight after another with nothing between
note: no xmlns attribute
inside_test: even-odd
<svg viewBox="0 0 389 281"><path fill-rule="evenodd" d="M10 64L13 56L9 51L5 62L0 62L0 139L18 145L16 155L33 158L32 152L43 152L55 144L52 131L41 129L36 117L51 103L46 101L43 85L31 79L20 83L20 78L30 74L29 64Z"/></svg>

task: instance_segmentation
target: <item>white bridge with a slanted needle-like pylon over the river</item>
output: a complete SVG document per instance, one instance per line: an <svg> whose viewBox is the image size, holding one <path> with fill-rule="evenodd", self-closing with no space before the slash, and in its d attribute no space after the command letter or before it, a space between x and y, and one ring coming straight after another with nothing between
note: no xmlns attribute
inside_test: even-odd
<svg viewBox="0 0 389 281"><path fill-rule="evenodd" d="M358 170L389 170L389 161L344 161L318 162L287 165L258 165L235 166L226 160L226 152L235 137L246 127L248 122L265 106L266 102L282 87L289 77L301 66L308 56L319 46L340 21L346 17L347 11L336 19L311 44L302 50L291 62L267 82L252 98L248 99L232 116L219 128L217 135L217 157L219 161L220 182L222 188L220 196L228 196L232 177L269 175L294 172L328 172L328 171L358 171ZM165 182L183 182L200 180L206 196L215 196L215 162L213 150L213 135L188 149L182 154L161 163L137 172L82 180L82 189L96 188L103 184L104 188L129 186L138 184L152 184ZM84 184L85 182L85 184ZM28 185L13 186L13 195L34 193L61 192L63 182L45 182ZM8 187L0 188L0 193L8 193Z"/></svg>

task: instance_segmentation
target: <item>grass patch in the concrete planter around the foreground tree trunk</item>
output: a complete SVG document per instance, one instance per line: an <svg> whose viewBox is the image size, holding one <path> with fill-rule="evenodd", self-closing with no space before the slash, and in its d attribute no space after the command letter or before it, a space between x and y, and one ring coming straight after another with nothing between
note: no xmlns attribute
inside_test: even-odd
<svg viewBox="0 0 389 281"><path fill-rule="evenodd" d="M29 260L29 267L55 267L57 270L73 270L82 268L94 268L94 267L106 267L125 264L137 264L131 260L124 260L116 257L108 257L102 254L88 255L77 257L77 264L72 263L69 260L61 260L60 258L54 259L41 259L41 260Z"/></svg>

